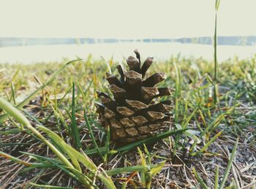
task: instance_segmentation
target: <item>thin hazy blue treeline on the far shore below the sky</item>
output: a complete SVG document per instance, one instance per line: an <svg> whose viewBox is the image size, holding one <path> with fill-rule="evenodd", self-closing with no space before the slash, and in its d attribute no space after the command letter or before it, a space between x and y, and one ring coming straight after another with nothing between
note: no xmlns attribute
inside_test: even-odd
<svg viewBox="0 0 256 189"><path fill-rule="evenodd" d="M179 39L96 39L96 38L23 38L0 37L0 47L18 47L29 45L79 45L118 42L181 42L212 45L212 37L194 37ZM256 45L256 36L218 36L218 45Z"/></svg>

